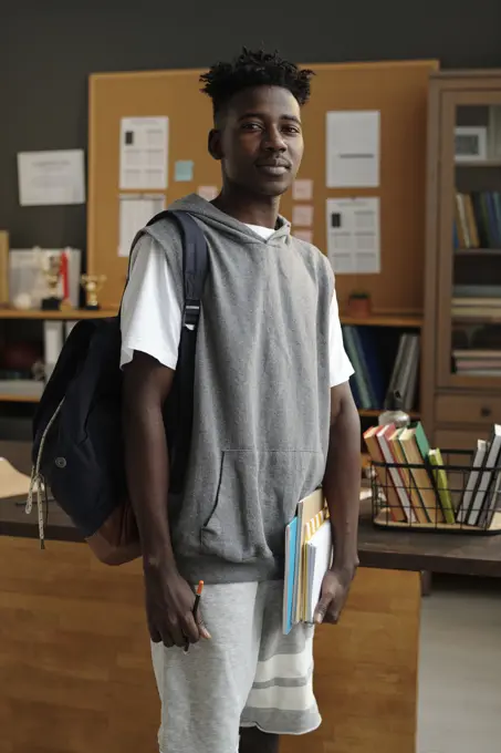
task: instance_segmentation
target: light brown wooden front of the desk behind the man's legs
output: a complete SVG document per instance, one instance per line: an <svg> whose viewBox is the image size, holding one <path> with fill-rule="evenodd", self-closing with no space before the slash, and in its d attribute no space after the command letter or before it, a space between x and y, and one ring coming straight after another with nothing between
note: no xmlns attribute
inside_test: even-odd
<svg viewBox="0 0 501 753"><path fill-rule="evenodd" d="M317 631L324 716L282 753L414 753L419 576L361 569ZM0 753L155 753L159 704L138 564L85 545L0 537Z"/></svg>

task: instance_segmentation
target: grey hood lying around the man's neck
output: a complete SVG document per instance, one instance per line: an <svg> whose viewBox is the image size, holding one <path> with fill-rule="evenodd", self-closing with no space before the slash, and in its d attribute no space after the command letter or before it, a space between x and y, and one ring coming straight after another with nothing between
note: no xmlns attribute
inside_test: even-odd
<svg viewBox="0 0 501 753"><path fill-rule="evenodd" d="M284 217L279 216L276 230L265 240L244 223L225 214L215 207L213 204L198 196L198 194L190 194L185 198L174 202L169 209L189 212L211 230L232 237L233 241L240 244L261 243L269 246L282 245L283 243L289 243L291 236L291 224Z"/></svg>

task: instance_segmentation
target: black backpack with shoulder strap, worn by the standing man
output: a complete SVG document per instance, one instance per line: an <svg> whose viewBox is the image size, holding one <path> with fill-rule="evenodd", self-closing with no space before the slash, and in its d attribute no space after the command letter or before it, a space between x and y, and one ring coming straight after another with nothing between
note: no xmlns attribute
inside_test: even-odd
<svg viewBox="0 0 501 753"><path fill-rule="evenodd" d="M182 237L185 302L178 364L164 410L170 492L182 488L189 455L197 327L208 269L201 228L186 212L163 212L148 225L175 219ZM95 555L111 565L140 554L128 499L122 435L121 319L79 321L60 353L33 421L33 475L27 512L36 493L44 539L46 489Z"/></svg>

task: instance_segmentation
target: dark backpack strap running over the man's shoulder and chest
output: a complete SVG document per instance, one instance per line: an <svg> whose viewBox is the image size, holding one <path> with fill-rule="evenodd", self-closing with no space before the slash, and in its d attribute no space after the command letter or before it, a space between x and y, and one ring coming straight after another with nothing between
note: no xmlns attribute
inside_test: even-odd
<svg viewBox="0 0 501 753"><path fill-rule="evenodd" d="M207 240L198 223L187 212L167 209L148 225L164 218L175 218L182 237L184 311L175 384L178 395L176 440L170 456L170 489L182 489L188 465L194 423L195 355L200 319L201 296L209 267Z"/></svg>

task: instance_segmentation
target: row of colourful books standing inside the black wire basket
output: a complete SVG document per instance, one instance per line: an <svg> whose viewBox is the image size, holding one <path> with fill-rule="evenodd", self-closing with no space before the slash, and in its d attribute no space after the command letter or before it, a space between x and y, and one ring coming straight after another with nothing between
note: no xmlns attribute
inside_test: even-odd
<svg viewBox="0 0 501 753"><path fill-rule="evenodd" d="M501 491L501 426L479 440L471 468L449 471L420 423L405 429L373 426L364 434L392 519L489 528ZM386 465L380 465L386 464ZM449 474L461 478L451 489ZM466 481L463 481L466 479Z"/></svg>

